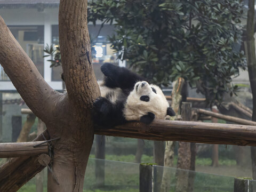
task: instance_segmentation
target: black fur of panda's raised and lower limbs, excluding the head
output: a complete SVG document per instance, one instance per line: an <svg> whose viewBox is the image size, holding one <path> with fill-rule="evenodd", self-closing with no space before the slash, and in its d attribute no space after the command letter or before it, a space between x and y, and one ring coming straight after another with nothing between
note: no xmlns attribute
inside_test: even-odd
<svg viewBox="0 0 256 192"><path fill-rule="evenodd" d="M111 63L104 63L100 69L105 75L103 79L105 85L109 88L119 87L123 94L116 103L108 100L111 95L95 100L93 103L94 122L106 127L124 124L127 122L123 114L125 100L133 90L134 84L142 81L143 78L124 67L118 67Z"/></svg>

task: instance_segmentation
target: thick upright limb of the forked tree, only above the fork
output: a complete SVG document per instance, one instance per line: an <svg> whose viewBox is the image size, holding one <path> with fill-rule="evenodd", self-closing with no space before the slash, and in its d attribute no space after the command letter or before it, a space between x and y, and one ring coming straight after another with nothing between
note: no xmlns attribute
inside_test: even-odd
<svg viewBox="0 0 256 192"><path fill-rule="evenodd" d="M92 66L85 2L62 0L59 10L60 50L69 101L83 110L91 109L100 95Z"/></svg>

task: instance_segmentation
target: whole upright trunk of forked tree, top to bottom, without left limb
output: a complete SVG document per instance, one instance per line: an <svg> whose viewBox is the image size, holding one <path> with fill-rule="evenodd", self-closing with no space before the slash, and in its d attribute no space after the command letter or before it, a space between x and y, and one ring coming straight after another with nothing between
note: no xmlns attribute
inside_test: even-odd
<svg viewBox="0 0 256 192"><path fill-rule="evenodd" d="M83 191L94 137L91 108L100 95L92 68L86 0L60 1L59 34L68 92L68 122L61 127L62 130L49 130L53 137L61 139L54 145L54 175L49 174L47 189L54 192Z"/></svg>

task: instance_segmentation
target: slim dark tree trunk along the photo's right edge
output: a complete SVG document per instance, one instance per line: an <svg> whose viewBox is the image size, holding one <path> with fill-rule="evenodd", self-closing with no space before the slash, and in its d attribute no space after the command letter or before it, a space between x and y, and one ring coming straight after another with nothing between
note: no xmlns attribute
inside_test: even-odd
<svg viewBox="0 0 256 192"><path fill-rule="evenodd" d="M256 121L256 58L255 58L255 40L254 40L254 0L248 1L249 10L247 12L247 26L246 26L246 42L245 52L247 58L247 67L249 73L249 79L252 90L253 110L252 110L252 121ZM256 148L251 147L251 158L252 158L252 176L256 179Z"/></svg>

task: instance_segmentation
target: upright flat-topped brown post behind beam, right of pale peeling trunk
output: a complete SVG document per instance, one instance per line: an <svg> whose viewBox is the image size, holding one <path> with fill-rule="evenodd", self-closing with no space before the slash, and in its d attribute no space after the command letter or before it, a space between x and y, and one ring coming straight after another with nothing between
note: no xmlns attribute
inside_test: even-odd
<svg viewBox="0 0 256 192"><path fill-rule="evenodd" d="M182 102L181 117L186 121L191 119L191 103ZM189 190L189 172L183 170L190 170L191 167L191 149L189 142L179 142L178 162L177 168L177 192L185 192Z"/></svg>

